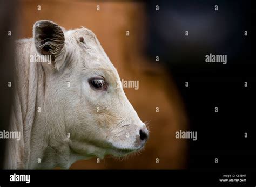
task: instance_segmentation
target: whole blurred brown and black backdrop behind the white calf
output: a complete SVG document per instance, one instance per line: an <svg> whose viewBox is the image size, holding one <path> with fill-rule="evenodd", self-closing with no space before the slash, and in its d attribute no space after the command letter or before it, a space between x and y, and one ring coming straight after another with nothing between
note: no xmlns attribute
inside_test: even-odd
<svg viewBox="0 0 256 187"><path fill-rule="evenodd" d="M100 163L96 159L78 161L71 169L255 168L256 65L252 54L256 11L252 2L16 3L18 38L32 37L33 24L43 19L66 29L84 26L97 35L120 78L139 81L139 90L124 91L142 121L149 121L151 133L145 150L123 160L107 157ZM6 32L8 26L1 31ZM210 53L227 55L227 64L205 63L205 55ZM5 93L8 96L9 92ZM175 139L179 130L197 131L197 141ZM214 163L216 157L218 164Z"/></svg>

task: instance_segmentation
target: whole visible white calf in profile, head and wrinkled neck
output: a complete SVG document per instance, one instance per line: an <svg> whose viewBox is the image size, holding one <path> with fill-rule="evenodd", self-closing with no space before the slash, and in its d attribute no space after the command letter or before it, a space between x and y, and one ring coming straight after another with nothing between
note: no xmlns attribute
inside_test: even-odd
<svg viewBox="0 0 256 187"><path fill-rule="evenodd" d="M149 137L116 68L86 28L37 21L17 41L8 169L69 168L80 159L125 156Z"/></svg>

